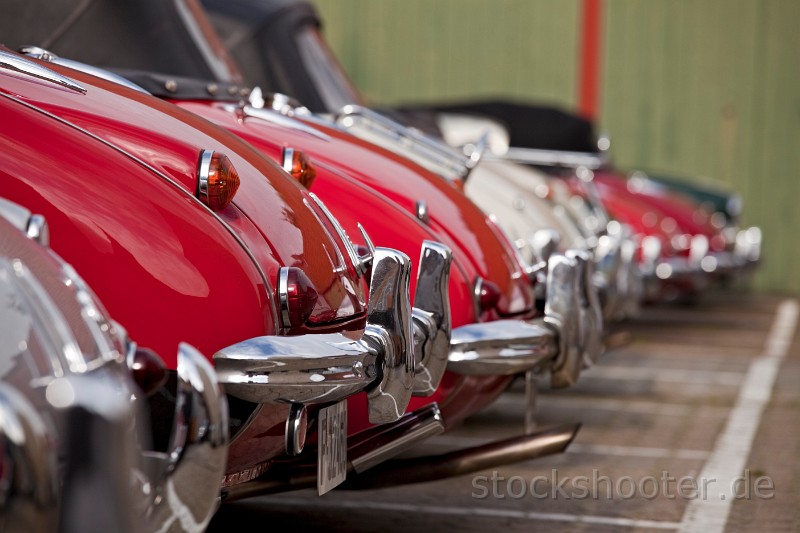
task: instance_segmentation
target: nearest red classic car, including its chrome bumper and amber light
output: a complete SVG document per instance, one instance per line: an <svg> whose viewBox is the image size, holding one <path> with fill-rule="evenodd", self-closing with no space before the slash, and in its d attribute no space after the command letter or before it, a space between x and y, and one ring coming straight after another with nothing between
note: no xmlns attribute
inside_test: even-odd
<svg viewBox="0 0 800 533"><path fill-rule="evenodd" d="M328 421L320 458L344 459L340 400L360 391L373 422L402 416L415 366L406 256L357 252L277 165L118 83L3 50L0 106L4 195L47 217L53 248L170 368L182 341L219 352L233 435L226 485L300 453L318 420ZM432 264L432 279L444 266ZM150 399L167 428L171 378ZM396 426L441 427L435 409L424 415ZM163 428L154 442L181 444ZM341 476L319 481L327 490Z"/></svg>

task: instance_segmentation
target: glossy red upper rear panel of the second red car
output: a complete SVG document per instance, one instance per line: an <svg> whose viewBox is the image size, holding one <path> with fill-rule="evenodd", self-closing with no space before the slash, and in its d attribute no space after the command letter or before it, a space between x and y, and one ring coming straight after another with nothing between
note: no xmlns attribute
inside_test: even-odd
<svg viewBox="0 0 800 533"><path fill-rule="evenodd" d="M235 132L271 157L276 157L282 146L300 148L315 164L338 169L392 200L412 216L416 213L416 202L424 200L429 211L428 226L439 240L453 249L465 273L473 280L480 276L498 285L502 293L498 305L500 314L525 316L533 312L531 287L512 250L513 245L494 232L491 221L475 204L440 177L401 156L317 122L308 123L308 126L321 131L328 139L260 118L245 117L230 104L175 103ZM261 141L266 143L264 146L257 144L260 139L264 139ZM313 190L318 190L317 182ZM497 317L496 312L486 313L481 319Z"/></svg>

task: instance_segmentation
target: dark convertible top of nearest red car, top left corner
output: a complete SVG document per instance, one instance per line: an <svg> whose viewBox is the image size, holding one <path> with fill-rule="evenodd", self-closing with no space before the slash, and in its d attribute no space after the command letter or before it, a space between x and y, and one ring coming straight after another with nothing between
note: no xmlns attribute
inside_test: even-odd
<svg viewBox="0 0 800 533"><path fill-rule="evenodd" d="M196 0L2 0L0 43L46 48L105 68L239 82Z"/></svg>

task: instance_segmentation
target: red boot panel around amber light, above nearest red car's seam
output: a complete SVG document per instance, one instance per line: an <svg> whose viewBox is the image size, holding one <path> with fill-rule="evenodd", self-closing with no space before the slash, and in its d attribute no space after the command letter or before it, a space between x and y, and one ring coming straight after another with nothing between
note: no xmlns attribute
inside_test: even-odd
<svg viewBox="0 0 800 533"><path fill-rule="evenodd" d="M232 161L241 184L232 206L217 215L249 246L272 287L277 286L280 266L299 267L320 294L309 325L363 318L365 284L351 264L341 264L341 257L347 257L344 243L320 225L307 191L287 179L273 161L237 137L157 98L56 65L47 67L84 85L87 94L43 90L39 83L10 76L3 79L0 91L18 95L113 144L191 196L197 188L201 150L221 151ZM147 191L142 185L127 200ZM336 248L342 253L336 254Z"/></svg>

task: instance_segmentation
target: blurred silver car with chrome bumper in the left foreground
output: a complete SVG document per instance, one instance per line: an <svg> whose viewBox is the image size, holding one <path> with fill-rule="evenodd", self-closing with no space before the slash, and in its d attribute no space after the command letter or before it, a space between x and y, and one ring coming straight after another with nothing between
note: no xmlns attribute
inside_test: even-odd
<svg viewBox="0 0 800 533"><path fill-rule="evenodd" d="M205 523L217 506L213 487L228 443L225 398L211 365L178 347L172 444L154 450L143 403L165 377L163 363L108 318L72 267L47 249L48 235L44 217L0 199L3 524L156 530L184 507Z"/></svg>

